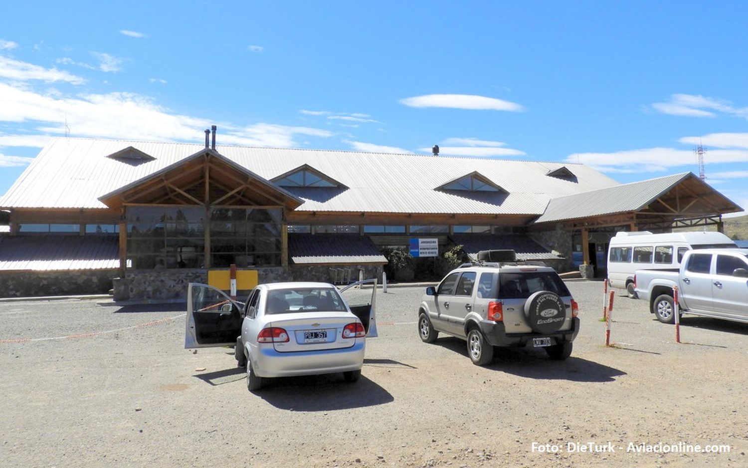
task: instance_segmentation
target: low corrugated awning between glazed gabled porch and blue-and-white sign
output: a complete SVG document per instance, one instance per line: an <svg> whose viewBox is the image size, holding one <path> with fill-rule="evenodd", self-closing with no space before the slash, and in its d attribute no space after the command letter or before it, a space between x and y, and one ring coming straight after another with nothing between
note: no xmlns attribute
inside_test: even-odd
<svg viewBox="0 0 748 468"><path fill-rule="evenodd" d="M358 234L289 234L289 257L295 264L386 264L369 237Z"/></svg>

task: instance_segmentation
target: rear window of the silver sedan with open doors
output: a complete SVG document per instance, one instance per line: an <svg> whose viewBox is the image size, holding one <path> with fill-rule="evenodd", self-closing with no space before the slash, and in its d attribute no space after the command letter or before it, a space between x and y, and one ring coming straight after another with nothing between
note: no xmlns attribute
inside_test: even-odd
<svg viewBox="0 0 748 468"><path fill-rule="evenodd" d="M268 291L265 314L343 312L346 305L333 288L289 288Z"/></svg>

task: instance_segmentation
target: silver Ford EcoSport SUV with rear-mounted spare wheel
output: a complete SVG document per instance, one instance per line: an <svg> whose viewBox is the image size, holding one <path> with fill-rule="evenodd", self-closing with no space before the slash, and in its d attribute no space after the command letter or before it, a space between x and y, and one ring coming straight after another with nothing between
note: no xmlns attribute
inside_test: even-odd
<svg viewBox="0 0 748 468"><path fill-rule="evenodd" d="M418 334L439 332L468 341L473 364L486 365L494 347L542 347L551 359L571 355L579 307L551 267L519 262L463 264L437 288L426 288Z"/></svg>

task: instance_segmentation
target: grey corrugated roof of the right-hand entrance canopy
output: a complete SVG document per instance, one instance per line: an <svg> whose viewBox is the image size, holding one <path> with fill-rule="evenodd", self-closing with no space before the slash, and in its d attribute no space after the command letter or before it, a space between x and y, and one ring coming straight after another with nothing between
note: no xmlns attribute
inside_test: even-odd
<svg viewBox="0 0 748 468"><path fill-rule="evenodd" d="M684 172L554 198L548 203L545 213L535 222L553 222L637 211L690 175L690 172Z"/></svg>

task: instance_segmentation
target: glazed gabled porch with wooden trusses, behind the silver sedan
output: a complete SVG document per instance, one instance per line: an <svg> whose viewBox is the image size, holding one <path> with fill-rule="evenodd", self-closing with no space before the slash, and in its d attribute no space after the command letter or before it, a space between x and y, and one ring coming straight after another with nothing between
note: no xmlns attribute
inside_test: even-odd
<svg viewBox="0 0 748 468"><path fill-rule="evenodd" d="M286 266L283 219L303 201L217 151L99 197L120 210L120 269Z"/></svg>

